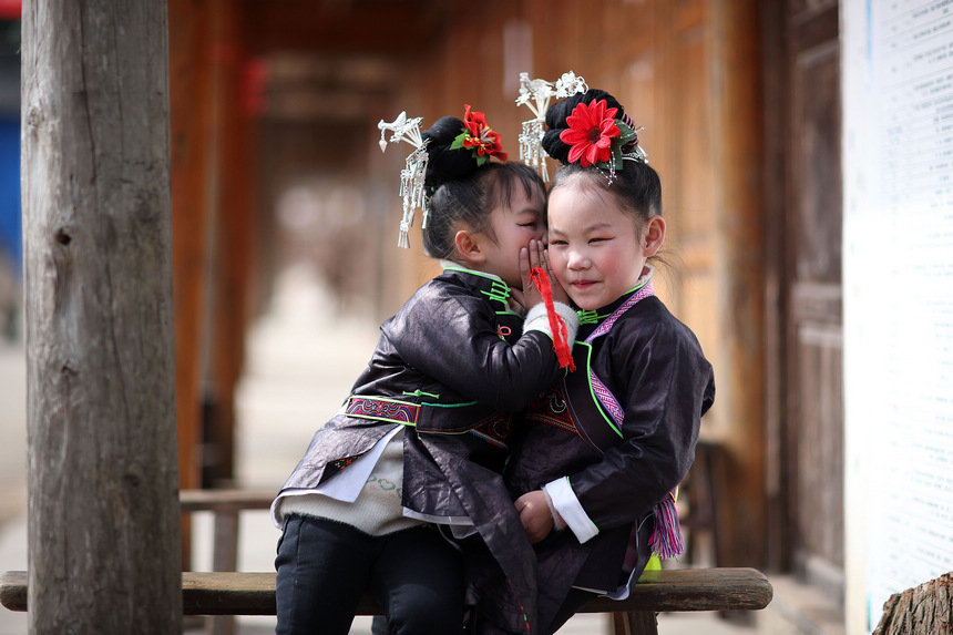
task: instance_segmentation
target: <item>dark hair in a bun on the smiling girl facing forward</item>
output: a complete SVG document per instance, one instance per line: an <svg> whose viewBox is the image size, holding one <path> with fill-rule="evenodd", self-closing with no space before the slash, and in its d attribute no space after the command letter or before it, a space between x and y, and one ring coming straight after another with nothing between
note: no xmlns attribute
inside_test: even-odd
<svg viewBox="0 0 953 635"><path fill-rule="evenodd" d="M543 136L543 148L563 165L553 177L550 192L568 182L586 180L586 187L608 192L615 196L621 207L632 214L639 224L644 224L655 215L662 215L662 181L644 161L622 162L622 168L616 168L612 175L607 170L588 166L583 167L578 162L568 163L570 145L560 139L560 134L568 127L566 117L580 103L591 103L594 100L606 100L608 107L616 107L616 119L631 124L625 109L618 101L605 91L590 89L585 93L576 93L563 101L556 102L546 111L546 126Z"/></svg>

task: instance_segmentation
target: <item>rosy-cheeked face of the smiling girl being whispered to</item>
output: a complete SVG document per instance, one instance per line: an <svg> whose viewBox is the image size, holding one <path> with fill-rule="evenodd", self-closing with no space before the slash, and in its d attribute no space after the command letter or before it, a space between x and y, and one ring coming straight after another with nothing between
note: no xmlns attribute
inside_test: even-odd
<svg viewBox="0 0 953 635"><path fill-rule="evenodd" d="M662 216L642 232L611 194L570 182L550 194L549 256L556 279L581 309L612 304L632 289L665 237Z"/></svg>

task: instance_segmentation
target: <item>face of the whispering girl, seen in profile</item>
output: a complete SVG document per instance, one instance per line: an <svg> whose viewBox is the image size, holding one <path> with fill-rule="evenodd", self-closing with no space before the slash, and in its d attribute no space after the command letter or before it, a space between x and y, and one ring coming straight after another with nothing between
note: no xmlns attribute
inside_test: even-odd
<svg viewBox="0 0 953 635"><path fill-rule="evenodd" d="M530 240L542 240L545 236L545 208L543 193L526 196L523 187L513 187L510 204L499 203L490 212L490 228L493 237L481 234L481 246L485 263L483 270L495 274L511 287L521 288L520 249Z"/></svg>

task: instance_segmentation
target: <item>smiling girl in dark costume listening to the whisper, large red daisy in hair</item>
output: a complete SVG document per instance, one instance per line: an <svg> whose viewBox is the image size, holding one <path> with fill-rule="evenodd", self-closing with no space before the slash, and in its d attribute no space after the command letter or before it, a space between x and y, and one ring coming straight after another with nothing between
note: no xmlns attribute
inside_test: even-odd
<svg viewBox="0 0 953 635"><path fill-rule="evenodd" d="M578 309L576 368L532 403L504 472L535 547L544 635L597 595L627 597L653 554L680 553L674 490L715 398L698 340L653 291L662 184L624 109L588 90L551 106L546 124L543 147L563 163L547 255ZM505 597L506 583L483 590ZM476 632L516 632L500 617Z"/></svg>

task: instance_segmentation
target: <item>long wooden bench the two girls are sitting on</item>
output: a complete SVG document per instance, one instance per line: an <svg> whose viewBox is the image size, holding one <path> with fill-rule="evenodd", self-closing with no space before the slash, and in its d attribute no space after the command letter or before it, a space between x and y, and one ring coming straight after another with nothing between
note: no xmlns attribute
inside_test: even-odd
<svg viewBox="0 0 953 635"><path fill-rule="evenodd" d="M27 580L24 571L0 575L0 604L27 611ZM627 600L594 600L582 613L612 613L617 635L654 635L658 612L754 611L766 607L772 593L754 569L673 569L638 584ZM182 600L185 615L274 615L275 574L184 572ZM358 614L379 615L380 607L365 596Z"/></svg>

